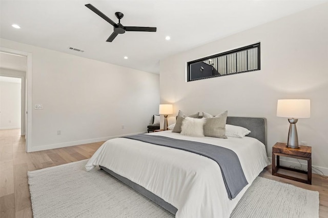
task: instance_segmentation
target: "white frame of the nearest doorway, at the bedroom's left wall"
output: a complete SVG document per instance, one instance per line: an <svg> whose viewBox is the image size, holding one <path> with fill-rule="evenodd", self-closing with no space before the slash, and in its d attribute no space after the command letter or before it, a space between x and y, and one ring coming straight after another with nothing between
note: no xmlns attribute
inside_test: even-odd
<svg viewBox="0 0 328 218"><path fill-rule="evenodd" d="M15 55L26 56L26 122L25 122L25 138L26 138L26 152L31 152L32 147L32 53L8 49L7 47L0 46L1 52L6 52ZM23 84L23 81L22 81ZM23 99L23 98L22 98ZM24 112L25 115L25 112Z"/></svg>

